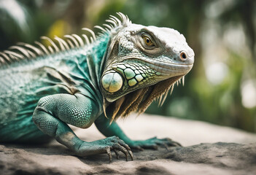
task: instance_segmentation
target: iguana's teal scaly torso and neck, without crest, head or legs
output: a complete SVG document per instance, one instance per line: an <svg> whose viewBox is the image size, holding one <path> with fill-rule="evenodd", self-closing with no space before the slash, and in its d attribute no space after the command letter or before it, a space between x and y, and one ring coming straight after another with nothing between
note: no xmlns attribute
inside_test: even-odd
<svg viewBox="0 0 256 175"><path fill-rule="evenodd" d="M43 133L34 125L32 114L37 102L44 96L79 92L102 106L97 77L101 74L101 61L108 40L105 35L93 44L2 64L1 141L40 139Z"/></svg>

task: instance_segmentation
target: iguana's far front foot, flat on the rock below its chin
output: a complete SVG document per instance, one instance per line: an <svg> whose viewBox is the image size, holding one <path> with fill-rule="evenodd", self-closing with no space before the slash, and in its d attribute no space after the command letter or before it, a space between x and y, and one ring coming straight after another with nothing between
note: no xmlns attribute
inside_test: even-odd
<svg viewBox="0 0 256 175"><path fill-rule="evenodd" d="M168 147L182 147L181 144L169 138L158 139L157 137L153 137L144 141L132 141L129 146L138 150L158 149L158 146L166 147L166 149L168 149Z"/></svg>

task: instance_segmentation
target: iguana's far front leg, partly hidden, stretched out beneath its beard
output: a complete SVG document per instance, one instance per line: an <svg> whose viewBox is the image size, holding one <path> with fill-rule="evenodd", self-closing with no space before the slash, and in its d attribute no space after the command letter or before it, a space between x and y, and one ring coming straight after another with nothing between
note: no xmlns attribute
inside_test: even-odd
<svg viewBox="0 0 256 175"><path fill-rule="evenodd" d="M109 119L101 115L98 117L95 121L96 127L98 128L98 131L101 131L104 136L118 136L120 139L125 141L126 144L128 144L129 147L133 149L139 149L143 150L145 149L158 149L158 146L164 146L164 147L181 147L181 144L179 144L176 141L172 141L171 139L158 139L156 137L153 137L152 139L147 140L131 140L128 138L128 136L123 133L122 129L113 121L110 123Z"/></svg>

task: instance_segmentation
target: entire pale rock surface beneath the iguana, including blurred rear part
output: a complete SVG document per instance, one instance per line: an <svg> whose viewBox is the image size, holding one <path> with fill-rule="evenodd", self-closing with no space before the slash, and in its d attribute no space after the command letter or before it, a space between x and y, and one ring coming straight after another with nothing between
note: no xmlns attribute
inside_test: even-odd
<svg viewBox="0 0 256 175"><path fill-rule="evenodd" d="M0 174L256 174L256 134L147 114L119 123L132 139L170 137L185 147L133 152L128 162L113 154L109 163L106 154L79 158L56 141L0 144ZM104 138L95 126L75 133L86 141Z"/></svg>

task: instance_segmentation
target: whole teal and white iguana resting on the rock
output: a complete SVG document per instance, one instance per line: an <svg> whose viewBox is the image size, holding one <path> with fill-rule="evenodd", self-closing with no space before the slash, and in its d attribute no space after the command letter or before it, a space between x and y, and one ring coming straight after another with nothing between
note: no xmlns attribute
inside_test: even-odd
<svg viewBox="0 0 256 175"><path fill-rule="evenodd" d="M194 52L171 28L141 26L127 15L110 15L101 32L46 36L48 44L18 43L0 52L0 142L44 142L55 138L79 156L131 148L179 146L171 139L133 141L115 120L163 104L168 90L184 82ZM95 123L106 139L86 142L69 128ZM36 124L36 125L35 125ZM39 129L38 129L39 128ZM130 148L131 147L131 148Z"/></svg>

